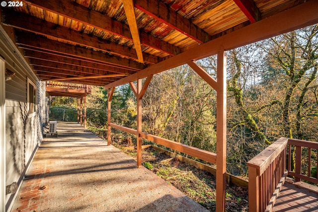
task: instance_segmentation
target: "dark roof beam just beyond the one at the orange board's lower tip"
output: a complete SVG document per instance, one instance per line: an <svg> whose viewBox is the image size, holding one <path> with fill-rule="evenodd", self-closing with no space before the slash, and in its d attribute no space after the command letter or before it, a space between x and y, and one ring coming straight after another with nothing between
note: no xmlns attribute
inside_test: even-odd
<svg viewBox="0 0 318 212"><path fill-rule="evenodd" d="M24 47L22 46L22 48ZM105 64L79 60L77 58L66 57L59 54L44 52L43 50L39 50L35 48L32 48L32 49L24 48L24 56L28 58L40 59L40 60L54 62L54 63L62 63L65 65L72 65L72 66L87 68L87 69L111 71L116 73L135 73L136 72L136 70L117 68L117 67L109 66Z"/></svg>

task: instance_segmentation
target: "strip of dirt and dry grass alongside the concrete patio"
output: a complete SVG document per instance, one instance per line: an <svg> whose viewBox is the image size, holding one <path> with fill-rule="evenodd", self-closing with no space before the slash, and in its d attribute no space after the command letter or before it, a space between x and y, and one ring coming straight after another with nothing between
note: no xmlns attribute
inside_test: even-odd
<svg viewBox="0 0 318 212"><path fill-rule="evenodd" d="M121 139L112 145L137 160L137 150L123 150L127 142ZM216 211L216 178L211 173L170 158L151 147L142 151L143 166L164 179L211 212ZM233 184L226 186L226 211L247 212L248 190Z"/></svg>

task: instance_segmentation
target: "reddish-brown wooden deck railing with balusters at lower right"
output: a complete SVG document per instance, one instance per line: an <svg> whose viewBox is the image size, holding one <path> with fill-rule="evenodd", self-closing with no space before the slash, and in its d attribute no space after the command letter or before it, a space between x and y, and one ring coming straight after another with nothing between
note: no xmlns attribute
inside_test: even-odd
<svg viewBox="0 0 318 212"><path fill-rule="evenodd" d="M288 170L286 169L286 147L288 146ZM296 147L296 169L291 171L292 148ZM307 163L302 161L302 149L308 148ZM248 205L251 212L272 210L278 194L288 175L296 180L307 180L318 183L318 177L310 177L312 165L312 149L318 149L318 142L280 138L272 143L253 159L248 161ZM305 155L306 158L306 155ZM308 167L308 173L302 173L302 166Z"/></svg>

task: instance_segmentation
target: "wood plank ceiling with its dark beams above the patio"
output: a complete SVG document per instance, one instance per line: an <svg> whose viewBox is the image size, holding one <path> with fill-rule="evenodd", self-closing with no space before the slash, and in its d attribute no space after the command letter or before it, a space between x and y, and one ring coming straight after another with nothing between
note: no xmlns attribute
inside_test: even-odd
<svg viewBox="0 0 318 212"><path fill-rule="evenodd" d="M23 0L2 25L40 80L107 85L305 2L124 1Z"/></svg>

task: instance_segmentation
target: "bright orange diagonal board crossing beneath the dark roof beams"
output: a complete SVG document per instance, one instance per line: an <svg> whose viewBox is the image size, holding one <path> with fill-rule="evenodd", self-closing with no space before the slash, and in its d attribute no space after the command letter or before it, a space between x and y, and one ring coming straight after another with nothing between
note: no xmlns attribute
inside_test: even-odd
<svg viewBox="0 0 318 212"><path fill-rule="evenodd" d="M141 49L139 31L138 31L135 8L134 8L134 2L133 0L123 0L123 5L124 5L127 21L128 21L130 33L134 41L136 53L138 56L138 61L140 63L144 63L143 51Z"/></svg>

